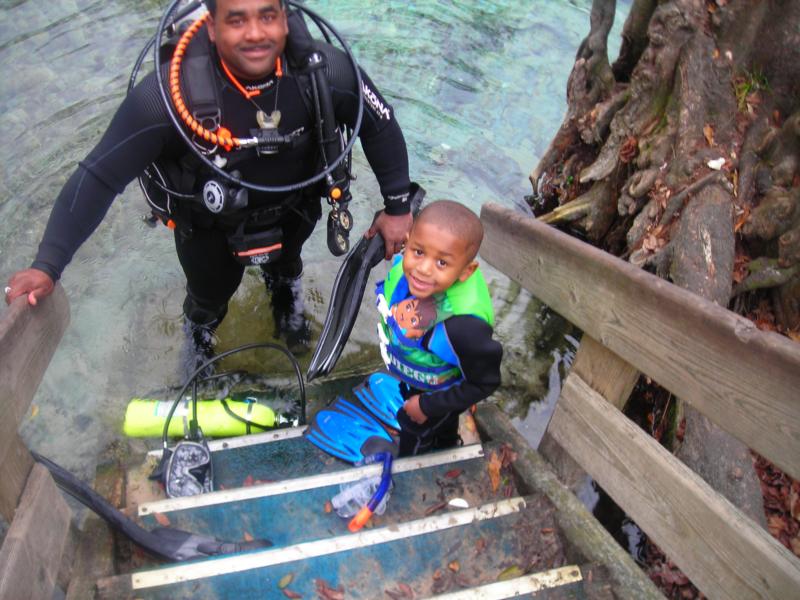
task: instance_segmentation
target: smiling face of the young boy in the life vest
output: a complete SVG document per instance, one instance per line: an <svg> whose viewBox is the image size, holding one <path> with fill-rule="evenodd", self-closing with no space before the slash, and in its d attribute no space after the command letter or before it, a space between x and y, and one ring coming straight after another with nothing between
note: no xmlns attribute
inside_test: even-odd
<svg viewBox="0 0 800 600"><path fill-rule="evenodd" d="M478 268L467 244L433 223L414 224L403 252L403 273L417 298L444 292L456 281L466 281Z"/></svg>

